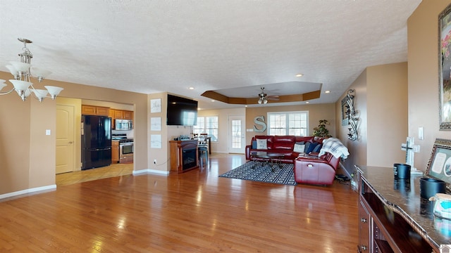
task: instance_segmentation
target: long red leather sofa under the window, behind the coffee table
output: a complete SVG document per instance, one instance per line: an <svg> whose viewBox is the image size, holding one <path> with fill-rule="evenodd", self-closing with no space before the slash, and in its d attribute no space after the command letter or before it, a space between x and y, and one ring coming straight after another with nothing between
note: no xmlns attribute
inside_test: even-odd
<svg viewBox="0 0 451 253"><path fill-rule="evenodd" d="M259 160L256 157L252 157L251 153L256 151L266 151L273 153L281 153L285 156L280 160L283 163L294 163L297 156L300 154L293 151L295 143L322 143L323 138L315 136L254 136L252 141L257 141L257 139L266 139L266 149L252 148L251 145L246 146L246 159L247 160ZM251 142L252 143L252 142Z"/></svg>

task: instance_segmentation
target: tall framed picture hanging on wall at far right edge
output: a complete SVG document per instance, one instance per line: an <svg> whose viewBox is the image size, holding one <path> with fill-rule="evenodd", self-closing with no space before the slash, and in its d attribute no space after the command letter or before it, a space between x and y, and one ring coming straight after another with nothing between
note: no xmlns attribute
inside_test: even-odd
<svg viewBox="0 0 451 253"><path fill-rule="evenodd" d="M439 125L451 130L451 4L438 15Z"/></svg>

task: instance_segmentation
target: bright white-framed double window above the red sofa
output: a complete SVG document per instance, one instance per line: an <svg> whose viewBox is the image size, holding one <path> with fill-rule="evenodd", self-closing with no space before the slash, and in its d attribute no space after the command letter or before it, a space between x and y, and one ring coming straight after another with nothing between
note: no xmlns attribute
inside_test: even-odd
<svg viewBox="0 0 451 253"><path fill-rule="evenodd" d="M268 112L268 135L307 136L309 112Z"/></svg>

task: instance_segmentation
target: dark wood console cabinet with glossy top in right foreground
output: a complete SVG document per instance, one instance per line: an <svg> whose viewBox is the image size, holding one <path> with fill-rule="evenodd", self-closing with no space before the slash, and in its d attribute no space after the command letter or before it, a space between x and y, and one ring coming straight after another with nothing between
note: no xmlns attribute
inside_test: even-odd
<svg viewBox="0 0 451 253"><path fill-rule="evenodd" d="M358 252L440 252L451 245L451 221L433 215L419 179L394 179L393 168L358 166Z"/></svg>

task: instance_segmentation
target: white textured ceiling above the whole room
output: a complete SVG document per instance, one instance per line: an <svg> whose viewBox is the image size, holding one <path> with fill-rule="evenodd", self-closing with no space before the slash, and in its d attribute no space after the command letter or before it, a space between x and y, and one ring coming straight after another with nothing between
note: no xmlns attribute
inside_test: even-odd
<svg viewBox="0 0 451 253"><path fill-rule="evenodd" d="M309 82L322 84L311 103L334 103L365 67L407 61L407 18L420 2L0 0L0 70L23 37L49 79L168 91L202 108L237 106L204 91L257 97L268 84L283 95L277 84Z"/></svg>

